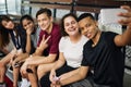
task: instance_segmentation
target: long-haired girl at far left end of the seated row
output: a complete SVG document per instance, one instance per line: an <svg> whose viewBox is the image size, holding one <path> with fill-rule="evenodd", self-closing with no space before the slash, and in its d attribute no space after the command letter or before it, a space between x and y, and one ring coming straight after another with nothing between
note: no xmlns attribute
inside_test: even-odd
<svg viewBox="0 0 131 87"><path fill-rule="evenodd" d="M4 84L4 75L7 72L7 65L11 62L11 60L21 54L21 29L20 27L8 16L0 15L0 30L1 30L1 42L3 46L7 46L10 42L10 38L13 42L13 49L10 53L8 53L3 59L0 60L0 83Z"/></svg>

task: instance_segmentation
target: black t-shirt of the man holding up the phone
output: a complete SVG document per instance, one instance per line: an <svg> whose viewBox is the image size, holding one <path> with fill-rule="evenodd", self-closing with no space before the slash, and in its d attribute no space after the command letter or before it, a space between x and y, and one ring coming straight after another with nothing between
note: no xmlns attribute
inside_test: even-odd
<svg viewBox="0 0 131 87"><path fill-rule="evenodd" d="M95 47L92 47L92 40L84 46L82 65L93 69L96 84L122 87L124 58L121 47L117 47L114 42L116 35L111 32L103 32Z"/></svg>

